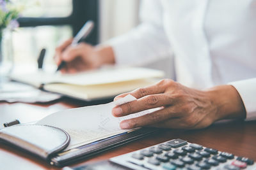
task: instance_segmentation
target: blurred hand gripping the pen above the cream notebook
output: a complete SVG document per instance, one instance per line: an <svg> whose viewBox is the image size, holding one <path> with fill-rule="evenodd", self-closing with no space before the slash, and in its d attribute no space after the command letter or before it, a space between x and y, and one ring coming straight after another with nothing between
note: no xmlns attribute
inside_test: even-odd
<svg viewBox="0 0 256 170"><path fill-rule="evenodd" d="M72 39L68 39L56 48L54 59L57 65L65 61L66 65L61 73L76 73L97 69L103 64L114 64L115 57L111 46L92 46L87 43L79 43L70 46Z"/></svg>

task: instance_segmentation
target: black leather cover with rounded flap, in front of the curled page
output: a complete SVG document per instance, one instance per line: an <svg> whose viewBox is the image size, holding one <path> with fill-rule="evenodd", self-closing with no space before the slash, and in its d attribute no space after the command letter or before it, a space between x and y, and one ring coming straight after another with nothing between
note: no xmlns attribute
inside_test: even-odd
<svg viewBox="0 0 256 170"><path fill-rule="evenodd" d="M157 132L156 128L143 127L137 131L116 135L61 152L70 142L70 136L67 132L48 125L29 124L13 125L0 129L0 141L22 148L27 152L42 157L51 165L61 167L143 138L154 132Z"/></svg>

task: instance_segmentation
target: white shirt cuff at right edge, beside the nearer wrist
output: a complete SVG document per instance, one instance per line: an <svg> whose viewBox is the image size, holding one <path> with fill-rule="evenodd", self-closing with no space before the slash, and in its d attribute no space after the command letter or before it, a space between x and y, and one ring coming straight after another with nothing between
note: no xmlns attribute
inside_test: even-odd
<svg viewBox="0 0 256 170"><path fill-rule="evenodd" d="M256 120L256 78L228 83L239 92L246 110L246 120Z"/></svg>

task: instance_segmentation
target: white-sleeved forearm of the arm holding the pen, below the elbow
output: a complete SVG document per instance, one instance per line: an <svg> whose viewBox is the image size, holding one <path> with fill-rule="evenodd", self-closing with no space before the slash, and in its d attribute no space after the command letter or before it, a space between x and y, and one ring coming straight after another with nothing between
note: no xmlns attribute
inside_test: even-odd
<svg viewBox="0 0 256 170"><path fill-rule="evenodd" d="M113 46L115 62L120 66L143 66L172 55L163 28L147 23L138 25L122 36L109 39L107 44Z"/></svg>

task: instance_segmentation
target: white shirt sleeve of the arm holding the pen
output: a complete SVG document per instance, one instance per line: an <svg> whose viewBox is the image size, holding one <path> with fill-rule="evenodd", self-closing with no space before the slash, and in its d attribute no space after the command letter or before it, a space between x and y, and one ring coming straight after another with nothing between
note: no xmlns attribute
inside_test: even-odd
<svg viewBox="0 0 256 170"><path fill-rule="evenodd" d="M116 64L141 66L160 57L170 56L170 43L163 29L162 13L159 1L141 1L141 24L107 42L113 47Z"/></svg>

